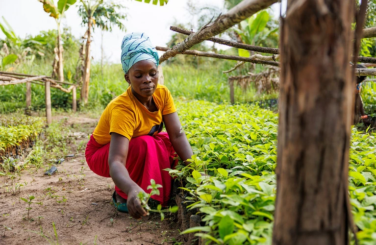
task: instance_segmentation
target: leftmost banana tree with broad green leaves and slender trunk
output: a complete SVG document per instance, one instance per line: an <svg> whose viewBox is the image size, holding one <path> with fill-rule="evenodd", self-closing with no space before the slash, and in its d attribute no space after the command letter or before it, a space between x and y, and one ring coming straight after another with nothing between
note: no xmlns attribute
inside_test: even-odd
<svg viewBox="0 0 376 245"><path fill-rule="evenodd" d="M46 13L50 14L50 17L53 17L57 25L57 42L55 48L55 59L53 61L53 72L58 74L60 81L64 81L64 65L63 65L63 45L61 42L61 30L60 23L64 16L64 12L68 8L75 4L76 0L58 0L57 5L54 4L53 0L39 0L43 3L43 9Z"/></svg>

